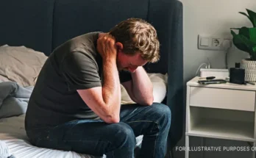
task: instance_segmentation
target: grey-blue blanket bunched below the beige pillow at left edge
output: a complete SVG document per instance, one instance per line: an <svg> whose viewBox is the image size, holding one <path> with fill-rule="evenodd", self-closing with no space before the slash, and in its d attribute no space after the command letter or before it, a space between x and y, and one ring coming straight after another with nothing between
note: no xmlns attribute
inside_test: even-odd
<svg viewBox="0 0 256 158"><path fill-rule="evenodd" d="M16 82L0 82L0 118L24 114L32 90L32 86L22 87Z"/></svg>

